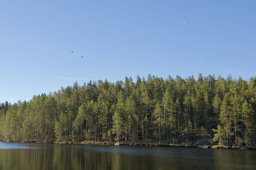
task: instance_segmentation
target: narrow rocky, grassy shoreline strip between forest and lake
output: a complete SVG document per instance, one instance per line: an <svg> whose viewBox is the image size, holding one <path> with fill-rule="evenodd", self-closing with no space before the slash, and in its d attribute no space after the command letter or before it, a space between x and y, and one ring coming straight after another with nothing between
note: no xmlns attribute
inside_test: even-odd
<svg viewBox="0 0 256 170"><path fill-rule="evenodd" d="M231 147L231 146L220 146L220 145L182 145L182 144L159 144L159 143L125 143L125 142L111 142L111 141L54 141L54 142L45 142L45 141L12 141L0 139L2 142L6 143L54 143L54 144L68 144L68 145L102 145L102 146L148 146L148 147L180 147L180 148L205 148L205 149L232 149L232 150L256 150L252 147Z"/></svg>

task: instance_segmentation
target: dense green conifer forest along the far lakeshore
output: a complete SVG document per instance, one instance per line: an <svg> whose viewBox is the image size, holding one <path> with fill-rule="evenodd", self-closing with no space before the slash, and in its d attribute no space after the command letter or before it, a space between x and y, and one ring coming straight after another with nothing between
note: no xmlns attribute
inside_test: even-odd
<svg viewBox="0 0 256 170"><path fill-rule="evenodd" d="M255 146L256 78L99 80L0 105L4 140L195 143L205 135Z"/></svg>

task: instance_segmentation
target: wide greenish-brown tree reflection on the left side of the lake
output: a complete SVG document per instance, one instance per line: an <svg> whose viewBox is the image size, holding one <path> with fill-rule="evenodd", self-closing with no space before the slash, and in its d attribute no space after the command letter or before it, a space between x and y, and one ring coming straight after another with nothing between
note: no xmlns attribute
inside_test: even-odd
<svg viewBox="0 0 256 170"><path fill-rule="evenodd" d="M152 169L157 162L147 157L95 152L81 147L52 145L37 149L0 150L0 169ZM161 167L161 165L157 165ZM150 168L151 167L151 168ZM154 168L156 169L156 168Z"/></svg>

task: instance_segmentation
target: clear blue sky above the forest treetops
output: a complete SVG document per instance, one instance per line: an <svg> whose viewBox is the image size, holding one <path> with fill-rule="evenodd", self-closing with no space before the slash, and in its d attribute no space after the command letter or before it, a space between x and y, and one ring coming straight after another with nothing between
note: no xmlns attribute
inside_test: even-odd
<svg viewBox="0 0 256 170"><path fill-rule="evenodd" d="M149 73L248 80L255 9L242 0L1 1L0 102Z"/></svg>

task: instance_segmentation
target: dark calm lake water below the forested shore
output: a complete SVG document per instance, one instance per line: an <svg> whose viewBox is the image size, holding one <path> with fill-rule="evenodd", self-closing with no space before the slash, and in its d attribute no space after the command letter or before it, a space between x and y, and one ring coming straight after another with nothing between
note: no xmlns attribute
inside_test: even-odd
<svg viewBox="0 0 256 170"><path fill-rule="evenodd" d="M0 142L2 169L256 169L256 151Z"/></svg>

